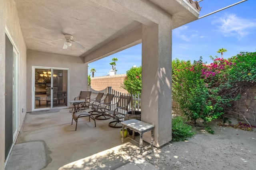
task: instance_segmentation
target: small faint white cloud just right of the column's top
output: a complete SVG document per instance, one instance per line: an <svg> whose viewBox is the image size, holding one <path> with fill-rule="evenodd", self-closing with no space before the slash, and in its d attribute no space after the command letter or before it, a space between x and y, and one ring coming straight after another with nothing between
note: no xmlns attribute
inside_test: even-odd
<svg viewBox="0 0 256 170"><path fill-rule="evenodd" d="M191 41L192 38L198 36L198 31L189 30L188 26L181 26L172 31L172 34L184 41Z"/></svg>

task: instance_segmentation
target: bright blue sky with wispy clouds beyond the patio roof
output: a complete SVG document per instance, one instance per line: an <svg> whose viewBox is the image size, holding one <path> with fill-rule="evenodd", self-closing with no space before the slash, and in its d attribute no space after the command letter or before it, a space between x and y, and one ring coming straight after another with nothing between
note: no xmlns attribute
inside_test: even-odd
<svg viewBox="0 0 256 170"><path fill-rule="evenodd" d="M241 0L203 0L199 2L200 15L204 16ZM193 62L200 56L203 62L212 63L209 56L221 57L218 49L224 48L223 58L240 52L256 51L256 0L247 0L210 16L198 19L172 30L172 60ZM88 74L95 68L94 76L107 76L117 58L116 74L124 74L132 66L141 66L141 44L89 63Z"/></svg>

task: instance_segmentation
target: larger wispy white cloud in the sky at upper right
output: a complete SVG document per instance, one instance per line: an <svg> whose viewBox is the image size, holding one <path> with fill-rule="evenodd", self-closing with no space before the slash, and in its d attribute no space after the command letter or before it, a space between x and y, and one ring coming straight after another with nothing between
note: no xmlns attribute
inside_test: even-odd
<svg viewBox="0 0 256 170"><path fill-rule="evenodd" d="M223 17L212 21L217 24L218 31L226 37L236 36L241 39L250 33L251 29L255 29L256 22L239 18L235 14L225 14Z"/></svg>

